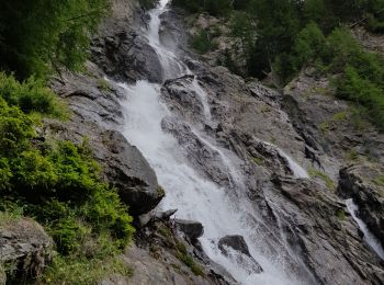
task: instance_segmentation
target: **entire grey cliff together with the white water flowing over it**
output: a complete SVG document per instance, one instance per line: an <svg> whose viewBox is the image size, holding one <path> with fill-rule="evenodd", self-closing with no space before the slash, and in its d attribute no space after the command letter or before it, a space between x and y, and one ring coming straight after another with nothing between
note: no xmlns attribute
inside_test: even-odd
<svg viewBox="0 0 384 285"><path fill-rule="evenodd" d="M134 270L128 283L383 284L383 262L345 203L353 198L384 240L383 134L370 124L362 132L310 70L280 93L210 66L188 50L183 14L161 11L159 47L137 1L115 0L88 75L53 81L70 121L39 130L75 142L88 136L105 179L139 216L123 256ZM346 167L351 160L360 167Z"/></svg>

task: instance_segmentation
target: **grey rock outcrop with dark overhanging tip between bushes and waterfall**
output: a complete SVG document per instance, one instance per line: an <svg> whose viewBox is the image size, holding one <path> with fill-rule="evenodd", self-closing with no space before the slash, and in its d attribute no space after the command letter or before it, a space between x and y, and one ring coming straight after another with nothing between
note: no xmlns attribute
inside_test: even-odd
<svg viewBox="0 0 384 285"><path fill-rule="evenodd" d="M89 66L89 72L94 77L68 75L53 82L54 90L74 113L69 122L46 121L42 136L75 144L87 137L105 180L118 189L129 213L135 216L147 213L161 201L163 192L140 151L113 130L124 121L120 104L125 98L124 90L103 80L102 71L93 65Z"/></svg>

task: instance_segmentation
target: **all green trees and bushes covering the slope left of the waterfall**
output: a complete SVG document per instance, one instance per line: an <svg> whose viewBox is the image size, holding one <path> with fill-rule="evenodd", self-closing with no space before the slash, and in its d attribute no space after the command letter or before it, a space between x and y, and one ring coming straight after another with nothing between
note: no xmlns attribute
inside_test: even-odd
<svg viewBox="0 0 384 285"><path fill-rule="evenodd" d="M101 178L87 139L74 145L41 134L42 118L70 115L46 82L63 69L82 69L109 7L7 0L0 10L0 213L33 217L53 237L58 254L38 283L89 284L127 273L114 256L132 238L132 217ZM11 280L11 266L5 271Z"/></svg>

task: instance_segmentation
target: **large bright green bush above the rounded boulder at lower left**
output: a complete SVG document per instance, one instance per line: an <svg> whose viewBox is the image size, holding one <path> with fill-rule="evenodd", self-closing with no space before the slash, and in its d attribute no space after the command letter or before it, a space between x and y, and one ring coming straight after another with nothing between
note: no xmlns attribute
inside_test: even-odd
<svg viewBox="0 0 384 285"><path fill-rule="evenodd" d="M33 142L31 115L9 106L2 98L0 129L0 210L9 216L23 205L23 214L50 233L60 255L47 273L49 278L78 278L72 284L81 284L82 278L91 280L100 272L114 272L116 264L98 266L129 242L133 219L116 190L101 180L87 140L79 146ZM63 259L68 264L61 271ZM93 275L78 271L69 277L70 270L88 267Z"/></svg>

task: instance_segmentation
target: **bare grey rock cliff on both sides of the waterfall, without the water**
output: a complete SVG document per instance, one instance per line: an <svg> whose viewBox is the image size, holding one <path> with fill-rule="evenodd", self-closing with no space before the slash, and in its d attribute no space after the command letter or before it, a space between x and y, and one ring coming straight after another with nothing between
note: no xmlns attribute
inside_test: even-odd
<svg viewBox="0 0 384 285"><path fill-rule="evenodd" d="M70 106L70 121L47 119L39 129L45 138L80 142L88 137L105 180L135 216L136 239L122 256L133 277L106 276L101 284L237 284L202 250L203 225L170 218L174 210L154 210L165 192L148 161L121 133L129 114L122 106L126 89L115 83L143 79L161 84L161 101L173 114L161 127L182 147L189 164L257 213L247 225L256 225L252 237L264 244L263 255L281 259L304 284L383 284L383 260L345 201L354 201L358 216L384 247L384 135L336 100L328 79L313 70L278 92L205 62L188 48L190 27L182 11L161 15L160 38L173 43L194 76L162 83L159 56L144 36L148 13L136 0L113 2L113 14L93 38L87 72L66 73L52 83ZM206 93L210 124L193 84ZM222 150L236 161L241 186L228 174ZM8 232L0 228L2 250L10 248ZM33 246L38 256L52 246L44 240ZM240 235L223 237L218 244L224 255L237 252L237 263L250 262L250 274L263 272Z"/></svg>

